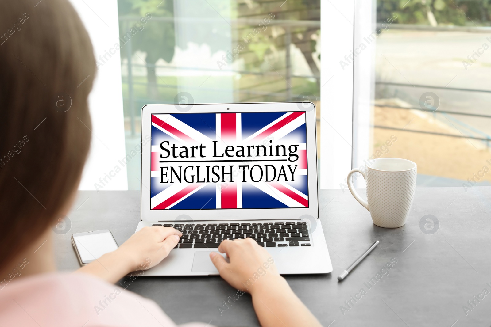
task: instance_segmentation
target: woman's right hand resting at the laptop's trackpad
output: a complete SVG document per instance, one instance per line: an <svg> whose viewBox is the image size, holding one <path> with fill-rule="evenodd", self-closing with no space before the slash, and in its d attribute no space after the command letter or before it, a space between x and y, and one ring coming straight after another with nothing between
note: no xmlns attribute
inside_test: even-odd
<svg viewBox="0 0 491 327"><path fill-rule="evenodd" d="M288 286L278 274L271 254L252 238L224 240L218 251L226 253L230 262L220 254L211 252L213 264L220 276L238 290L252 294L266 286Z"/></svg>

